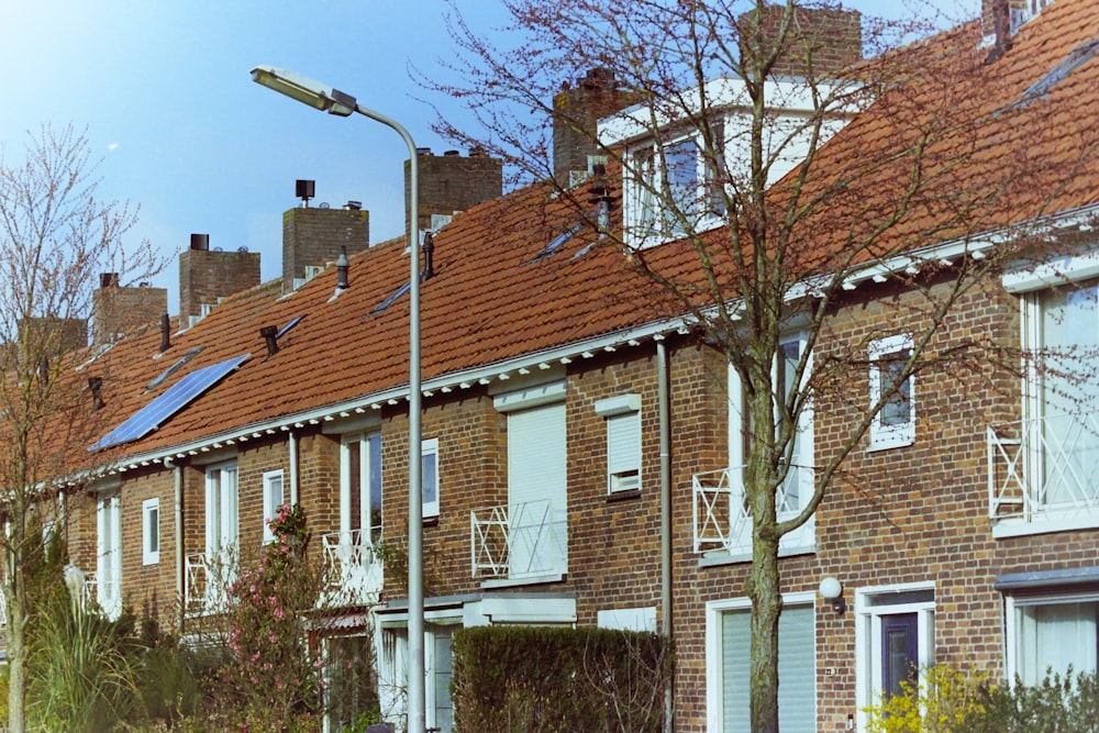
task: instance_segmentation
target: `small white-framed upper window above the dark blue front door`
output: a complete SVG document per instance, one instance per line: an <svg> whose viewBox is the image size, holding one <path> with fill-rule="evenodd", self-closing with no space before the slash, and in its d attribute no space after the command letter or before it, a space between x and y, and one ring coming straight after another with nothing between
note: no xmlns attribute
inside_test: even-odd
<svg viewBox="0 0 1099 733"><path fill-rule="evenodd" d="M870 408L886 395L870 423L870 449L911 445L915 441L914 377L901 380L900 375L912 356L912 336L880 338L870 344L869 351Z"/></svg>

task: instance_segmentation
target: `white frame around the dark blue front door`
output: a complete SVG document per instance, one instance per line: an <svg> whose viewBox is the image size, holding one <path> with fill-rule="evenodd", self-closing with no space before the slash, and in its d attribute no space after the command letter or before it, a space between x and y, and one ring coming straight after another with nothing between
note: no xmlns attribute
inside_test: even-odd
<svg viewBox="0 0 1099 733"><path fill-rule="evenodd" d="M874 599L893 593L931 591L931 600L904 603L875 603ZM876 701L881 689L881 617L897 613L917 614L918 656L921 674L934 664L935 654L935 584L907 582L855 589L855 709L858 730L868 724L866 709Z"/></svg>

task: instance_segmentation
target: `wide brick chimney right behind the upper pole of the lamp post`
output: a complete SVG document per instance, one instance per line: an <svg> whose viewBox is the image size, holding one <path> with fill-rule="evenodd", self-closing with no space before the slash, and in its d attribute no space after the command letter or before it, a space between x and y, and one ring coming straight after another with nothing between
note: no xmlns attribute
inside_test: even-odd
<svg viewBox="0 0 1099 733"><path fill-rule="evenodd" d="M420 231L434 229L432 214L451 216L456 211L465 211L482 201L491 201L503 192L503 164L475 147L468 157L458 151L446 151L432 155L431 148L417 151L420 164ZM404 195L411 188L410 166L404 162ZM406 198L406 200L408 200ZM404 231L409 229L409 215L404 212Z"/></svg>

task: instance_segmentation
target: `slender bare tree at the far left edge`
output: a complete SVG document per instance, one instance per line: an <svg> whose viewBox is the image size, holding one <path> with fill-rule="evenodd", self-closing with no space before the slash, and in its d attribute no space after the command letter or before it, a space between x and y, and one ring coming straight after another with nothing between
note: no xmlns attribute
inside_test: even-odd
<svg viewBox="0 0 1099 733"><path fill-rule="evenodd" d="M124 246L135 212L95 198L88 141L68 125L30 134L25 158L0 158L0 504L9 664L9 730L26 729L26 630L35 613L27 568L40 527L62 530L60 486L86 463L102 424L87 358L96 277L147 278L147 242Z"/></svg>

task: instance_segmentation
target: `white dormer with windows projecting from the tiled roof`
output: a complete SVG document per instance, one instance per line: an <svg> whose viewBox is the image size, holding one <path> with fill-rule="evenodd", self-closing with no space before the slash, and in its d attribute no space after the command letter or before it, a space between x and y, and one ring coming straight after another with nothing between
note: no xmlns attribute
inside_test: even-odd
<svg viewBox="0 0 1099 733"><path fill-rule="evenodd" d="M789 78L767 84L767 99L771 101L768 114L774 115L764 130L764 154L770 160L769 186L804 159L818 110L803 81ZM837 99L840 85L844 84L819 84L820 98ZM673 116L639 104L599 122L600 143L622 151L623 225L630 246L654 246L721 226L726 212L718 187L725 186L732 192L748 180L752 101L744 81L718 78L704 85L703 95L711 114L720 115L712 124L719 142L709 155L700 125L679 121L695 110L679 109ZM825 113L820 143L839 132L854 113L853 108L834 103L834 110Z"/></svg>

